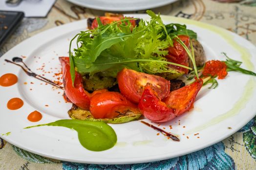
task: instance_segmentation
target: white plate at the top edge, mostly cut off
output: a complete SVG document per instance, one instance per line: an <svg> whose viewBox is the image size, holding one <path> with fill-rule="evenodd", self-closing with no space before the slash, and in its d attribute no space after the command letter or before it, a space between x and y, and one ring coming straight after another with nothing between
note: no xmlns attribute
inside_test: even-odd
<svg viewBox="0 0 256 170"><path fill-rule="evenodd" d="M138 11L164 6L177 0L67 0L87 8L104 11ZM135 5L134 5L135 4Z"/></svg>

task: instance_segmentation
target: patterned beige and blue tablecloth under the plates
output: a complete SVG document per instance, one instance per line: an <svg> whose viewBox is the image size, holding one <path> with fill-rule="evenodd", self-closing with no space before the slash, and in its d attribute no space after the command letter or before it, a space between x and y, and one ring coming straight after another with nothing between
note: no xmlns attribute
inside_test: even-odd
<svg viewBox="0 0 256 170"><path fill-rule="evenodd" d="M162 15L185 17L223 27L256 45L256 0L178 0L152 10ZM57 0L46 18L24 18L15 34L0 49L0 56L24 39L44 30L104 13ZM198 152L131 165L90 165L53 160L21 150L0 138L0 170L39 169L256 170L256 117L234 135Z"/></svg>

